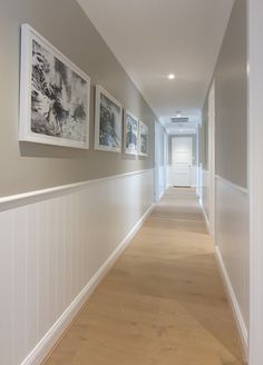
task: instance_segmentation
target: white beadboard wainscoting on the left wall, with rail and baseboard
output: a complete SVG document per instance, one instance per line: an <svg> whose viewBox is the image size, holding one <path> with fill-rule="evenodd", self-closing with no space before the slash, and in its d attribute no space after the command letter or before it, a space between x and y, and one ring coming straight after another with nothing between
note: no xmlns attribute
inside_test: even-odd
<svg viewBox="0 0 263 365"><path fill-rule="evenodd" d="M153 169L0 199L0 364L40 364L153 203Z"/></svg>

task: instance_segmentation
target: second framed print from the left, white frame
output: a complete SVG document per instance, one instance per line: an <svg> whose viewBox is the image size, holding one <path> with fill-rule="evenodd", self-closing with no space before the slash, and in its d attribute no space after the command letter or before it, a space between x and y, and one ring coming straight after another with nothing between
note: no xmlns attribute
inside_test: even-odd
<svg viewBox="0 0 263 365"><path fill-rule="evenodd" d="M121 152L121 103L99 85L95 100L95 149Z"/></svg>

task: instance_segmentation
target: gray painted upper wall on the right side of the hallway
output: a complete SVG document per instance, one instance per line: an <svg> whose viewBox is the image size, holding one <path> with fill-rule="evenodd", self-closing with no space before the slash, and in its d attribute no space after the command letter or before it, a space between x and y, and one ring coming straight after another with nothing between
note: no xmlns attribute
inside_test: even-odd
<svg viewBox="0 0 263 365"><path fill-rule="evenodd" d="M217 175L242 187L247 187L246 48L246 1L236 0L214 73L215 164ZM206 124L207 99L203 120ZM205 137L206 151L207 141ZM207 154L203 155L203 161L207 162Z"/></svg>

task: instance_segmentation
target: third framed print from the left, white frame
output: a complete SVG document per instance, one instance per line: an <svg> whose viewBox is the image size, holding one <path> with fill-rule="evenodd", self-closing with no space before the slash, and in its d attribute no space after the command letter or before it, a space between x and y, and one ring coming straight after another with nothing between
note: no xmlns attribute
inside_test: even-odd
<svg viewBox="0 0 263 365"><path fill-rule="evenodd" d="M124 114L124 152L128 155L138 154L138 118L128 110Z"/></svg>

